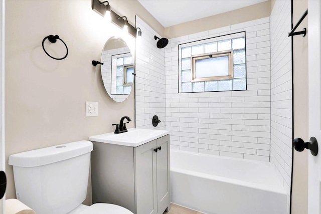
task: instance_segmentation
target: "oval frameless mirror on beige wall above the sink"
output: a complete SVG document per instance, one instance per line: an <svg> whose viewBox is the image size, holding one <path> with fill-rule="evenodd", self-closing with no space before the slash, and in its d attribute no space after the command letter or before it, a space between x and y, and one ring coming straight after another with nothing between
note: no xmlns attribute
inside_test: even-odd
<svg viewBox="0 0 321 214"><path fill-rule="evenodd" d="M122 102L130 94L134 82L134 63L130 49L120 37L111 37L105 44L101 62L101 77L109 96Z"/></svg>

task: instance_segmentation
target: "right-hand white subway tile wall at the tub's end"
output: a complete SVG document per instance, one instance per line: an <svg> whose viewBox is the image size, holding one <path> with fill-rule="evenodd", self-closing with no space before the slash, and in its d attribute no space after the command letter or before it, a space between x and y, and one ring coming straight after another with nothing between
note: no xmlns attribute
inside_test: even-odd
<svg viewBox="0 0 321 214"><path fill-rule="evenodd" d="M276 1L271 14L270 156L287 191L288 204L292 167L292 61L291 38L287 37L290 31L291 1Z"/></svg>

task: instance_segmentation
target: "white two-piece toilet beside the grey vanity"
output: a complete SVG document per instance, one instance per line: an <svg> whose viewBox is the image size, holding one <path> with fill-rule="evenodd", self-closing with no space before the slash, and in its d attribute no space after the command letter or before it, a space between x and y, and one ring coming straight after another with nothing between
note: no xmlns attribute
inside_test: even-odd
<svg viewBox="0 0 321 214"><path fill-rule="evenodd" d="M82 140L10 155L17 199L37 214L133 214L115 204L82 204L92 150Z"/></svg>

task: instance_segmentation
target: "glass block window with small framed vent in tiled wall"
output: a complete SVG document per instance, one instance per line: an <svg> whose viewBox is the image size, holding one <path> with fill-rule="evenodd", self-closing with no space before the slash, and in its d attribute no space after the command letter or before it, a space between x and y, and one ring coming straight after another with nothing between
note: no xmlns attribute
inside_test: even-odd
<svg viewBox="0 0 321 214"><path fill-rule="evenodd" d="M245 32L179 45L179 93L246 90Z"/></svg>

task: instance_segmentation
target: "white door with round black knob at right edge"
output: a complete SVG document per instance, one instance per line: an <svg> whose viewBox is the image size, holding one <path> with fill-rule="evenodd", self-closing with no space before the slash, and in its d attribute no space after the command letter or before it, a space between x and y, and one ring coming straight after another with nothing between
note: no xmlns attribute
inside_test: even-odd
<svg viewBox="0 0 321 214"><path fill-rule="evenodd" d="M309 136L321 146L321 45L320 1L308 1L308 80L309 80ZM308 154L308 214L320 214L321 152Z"/></svg>

